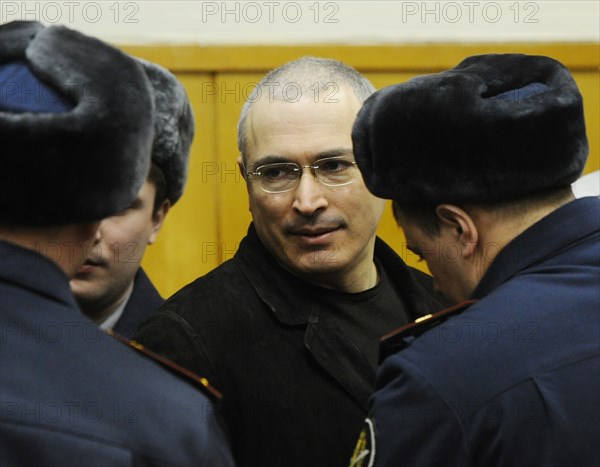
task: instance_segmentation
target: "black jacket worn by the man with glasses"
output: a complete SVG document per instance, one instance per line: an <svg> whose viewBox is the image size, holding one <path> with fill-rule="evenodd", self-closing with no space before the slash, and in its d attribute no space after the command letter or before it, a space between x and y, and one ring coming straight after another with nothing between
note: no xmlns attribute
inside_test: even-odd
<svg viewBox="0 0 600 467"><path fill-rule="evenodd" d="M430 278L381 240L375 256L409 316L438 310ZM224 393L240 466L347 464L375 371L251 226L233 259L171 297L136 339Z"/></svg>

